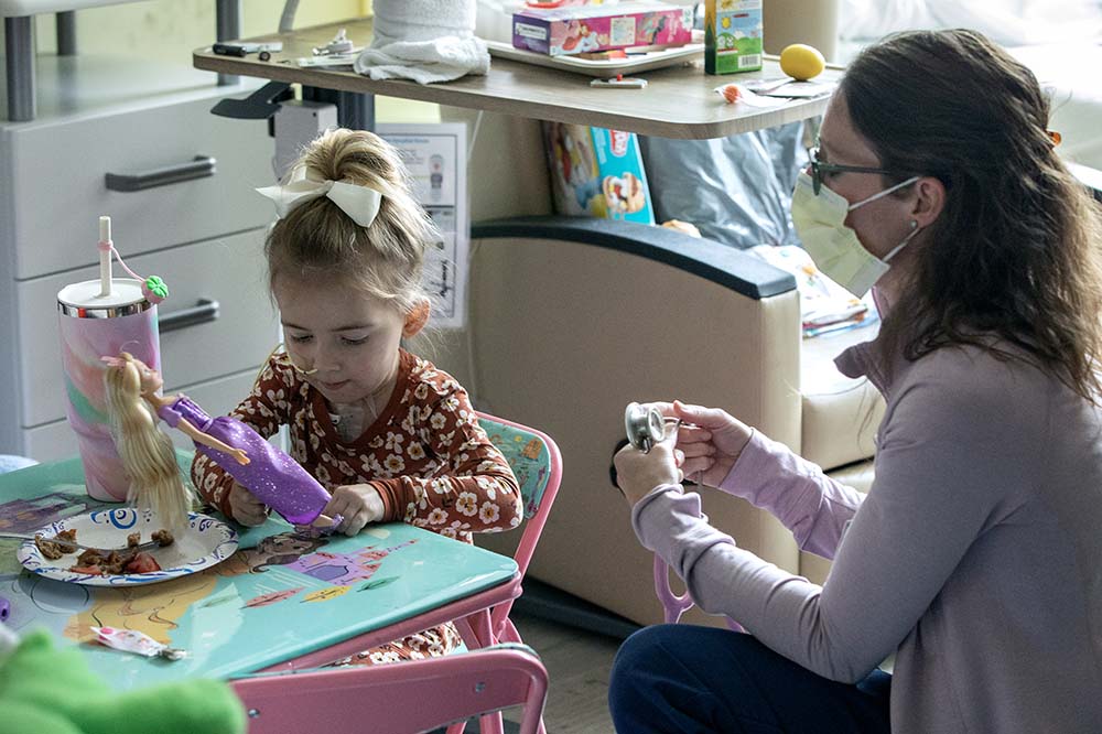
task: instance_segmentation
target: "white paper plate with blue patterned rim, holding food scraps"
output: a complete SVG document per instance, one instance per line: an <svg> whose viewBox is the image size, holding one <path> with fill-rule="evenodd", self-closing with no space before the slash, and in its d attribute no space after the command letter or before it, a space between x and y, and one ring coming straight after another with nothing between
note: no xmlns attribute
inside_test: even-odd
<svg viewBox="0 0 1102 734"><path fill-rule="evenodd" d="M148 551L156 559L160 571L151 573L126 573L119 575L94 576L86 573L74 573L69 566L76 564L79 552L66 553L60 559L50 560L42 555L33 540L24 541L15 552L19 562L28 571L46 579L64 581L85 586L133 586L169 581L195 573L203 569L225 561L237 550L237 531L231 527L207 515L190 512L187 530L177 532L171 546L154 548ZM51 522L36 530L46 538L53 538L62 530L76 530L77 542L96 548L123 548L127 536L141 532L141 540L150 540L154 530L161 526L153 514L138 511L131 507L94 510L77 515L57 522Z"/></svg>

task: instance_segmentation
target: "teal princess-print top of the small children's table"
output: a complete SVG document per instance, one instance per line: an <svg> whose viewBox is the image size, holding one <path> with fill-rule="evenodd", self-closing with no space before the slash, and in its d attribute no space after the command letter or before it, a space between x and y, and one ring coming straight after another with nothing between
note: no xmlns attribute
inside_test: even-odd
<svg viewBox="0 0 1102 734"><path fill-rule="evenodd" d="M180 455L182 466L191 454ZM0 475L0 532L33 532L118 507L88 497L79 460ZM282 520L242 529L230 558L206 570L121 587L30 573L18 540L0 539L0 596L17 632L48 628L80 645L119 689L181 677L229 678L381 629L514 579L512 559L397 522L348 538L299 537ZM95 643L90 628L137 629L186 651L177 661Z"/></svg>

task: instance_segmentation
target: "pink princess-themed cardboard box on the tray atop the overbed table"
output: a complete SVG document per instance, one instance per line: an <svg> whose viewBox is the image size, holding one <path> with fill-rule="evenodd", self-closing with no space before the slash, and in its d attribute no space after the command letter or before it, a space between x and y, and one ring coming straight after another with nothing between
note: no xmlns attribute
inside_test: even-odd
<svg viewBox="0 0 1102 734"><path fill-rule="evenodd" d="M681 46L691 39L692 9L663 3L527 8L512 14L512 45L551 56Z"/></svg>

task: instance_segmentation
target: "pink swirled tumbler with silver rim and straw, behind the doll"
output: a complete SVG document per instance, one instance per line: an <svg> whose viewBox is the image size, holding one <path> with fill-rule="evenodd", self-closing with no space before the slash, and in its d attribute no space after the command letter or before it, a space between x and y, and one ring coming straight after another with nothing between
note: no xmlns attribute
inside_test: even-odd
<svg viewBox="0 0 1102 734"><path fill-rule="evenodd" d="M65 370L66 414L76 432L88 495L125 501L129 481L111 438L100 357L129 352L161 369L156 306L142 294L141 281L115 278L110 293L100 280L66 285L57 293Z"/></svg>

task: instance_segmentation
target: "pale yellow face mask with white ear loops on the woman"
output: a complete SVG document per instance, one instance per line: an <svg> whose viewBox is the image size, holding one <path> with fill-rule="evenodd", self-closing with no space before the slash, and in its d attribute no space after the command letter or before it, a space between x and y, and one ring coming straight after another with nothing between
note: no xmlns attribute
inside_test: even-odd
<svg viewBox="0 0 1102 734"><path fill-rule="evenodd" d="M811 175L801 171L792 192L792 225L815 267L857 298L867 293L873 283L888 271L888 260L918 234L918 224L912 220L910 234L882 260L865 249L857 239L857 233L845 226L845 217L858 206L887 196L918 179L911 176L856 204L850 204L844 196L827 186L820 186L817 196Z"/></svg>

